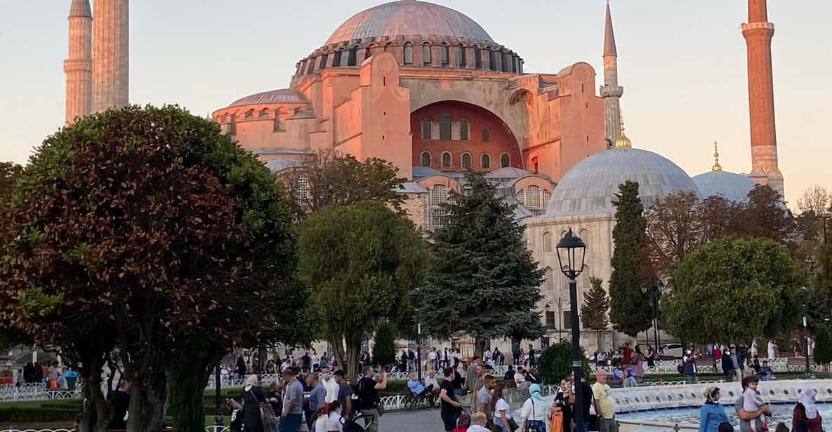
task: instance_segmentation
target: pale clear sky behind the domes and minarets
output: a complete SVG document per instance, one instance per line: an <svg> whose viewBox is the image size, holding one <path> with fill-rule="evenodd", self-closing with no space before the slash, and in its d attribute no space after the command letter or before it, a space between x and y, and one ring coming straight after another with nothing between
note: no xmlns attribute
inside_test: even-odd
<svg viewBox="0 0 832 432"><path fill-rule="evenodd" d="M526 61L556 73L602 71L603 0L440 0ZM289 85L295 62L379 0L132 0L131 103L178 103L206 115ZM745 0L612 0L622 112L633 145L691 176L750 169ZM0 160L24 163L63 123L69 0L0 0ZM794 207L832 188L829 0L769 0L780 169ZM820 81L815 82L815 79ZM597 76L600 85L602 76ZM827 82L827 84L824 84ZM826 126L823 126L823 125Z"/></svg>

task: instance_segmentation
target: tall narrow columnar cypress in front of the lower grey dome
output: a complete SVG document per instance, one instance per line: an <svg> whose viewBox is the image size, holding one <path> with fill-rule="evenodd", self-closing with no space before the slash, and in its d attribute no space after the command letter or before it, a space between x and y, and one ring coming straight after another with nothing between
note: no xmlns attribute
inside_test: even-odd
<svg viewBox="0 0 832 432"><path fill-rule="evenodd" d="M650 302L641 298L642 270L649 253L646 247L644 205L638 196L638 183L627 181L618 186L616 226L612 228L615 249L610 277L610 320L613 328L636 336L651 326Z"/></svg>

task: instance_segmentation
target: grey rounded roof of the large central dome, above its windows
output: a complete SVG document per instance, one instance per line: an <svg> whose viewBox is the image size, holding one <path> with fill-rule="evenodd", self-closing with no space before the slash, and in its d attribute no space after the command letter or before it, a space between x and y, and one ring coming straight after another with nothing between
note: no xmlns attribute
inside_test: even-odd
<svg viewBox="0 0 832 432"><path fill-rule="evenodd" d="M398 35L466 37L493 42L483 27L461 12L438 4L401 0L356 13L335 29L326 45L365 37Z"/></svg>

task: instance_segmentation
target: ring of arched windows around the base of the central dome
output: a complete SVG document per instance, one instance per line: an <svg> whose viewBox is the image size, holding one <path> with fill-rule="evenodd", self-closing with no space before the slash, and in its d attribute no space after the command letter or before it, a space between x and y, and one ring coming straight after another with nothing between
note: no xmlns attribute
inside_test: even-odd
<svg viewBox="0 0 832 432"><path fill-rule="evenodd" d="M384 46L384 51L390 51L394 47L393 44ZM422 66L431 66L432 64L432 47L430 42L423 42L422 44ZM359 47L341 48L333 52L332 67L342 66L357 66ZM453 66L465 67L468 65L468 50L464 45L448 45L447 43L439 44L439 64L448 66L451 59L451 51L453 51L453 58L455 59ZM502 52L491 48L473 47L473 67L475 69L488 69L489 71L503 71L512 73L522 73L522 60L520 57L510 52ZM483 65L483 54L488 58L488 67ZM367 59L373 55L370 47L364 48L364 58ZM327 66L329 54L322 54L318 57L311 57L298 64L298 69L295 75L311 74L316 70L324 69ZM414 44L412 42L404 42L404 65L414 64Z"/></svg>

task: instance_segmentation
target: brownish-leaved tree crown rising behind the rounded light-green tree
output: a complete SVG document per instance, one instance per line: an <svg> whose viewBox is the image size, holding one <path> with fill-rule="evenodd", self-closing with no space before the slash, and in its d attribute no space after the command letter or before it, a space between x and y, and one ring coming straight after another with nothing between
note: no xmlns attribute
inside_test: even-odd
<svg viewBox="0 0 832 432"><path fill-rule="evenodd" d="M404 214L406 196L398 190L404 189L407 179L399 177L397 167L386 160L360 161L353 155L322 150L302 167L280 171L278 179L291 197L289 206L299 222L327 205L368 200L384 202Z"/></svg>

